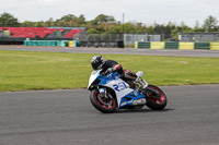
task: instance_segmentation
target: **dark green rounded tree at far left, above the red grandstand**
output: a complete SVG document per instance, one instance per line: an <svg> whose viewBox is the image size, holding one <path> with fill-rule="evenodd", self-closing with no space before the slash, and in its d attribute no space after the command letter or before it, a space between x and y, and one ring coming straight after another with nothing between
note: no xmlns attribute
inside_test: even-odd
<svg viewBox="0 0 219 145"><path fill-rule="evenodd" d="M0 15L0 26L20 26L20 23L12 14L4 12Z"/></svg>

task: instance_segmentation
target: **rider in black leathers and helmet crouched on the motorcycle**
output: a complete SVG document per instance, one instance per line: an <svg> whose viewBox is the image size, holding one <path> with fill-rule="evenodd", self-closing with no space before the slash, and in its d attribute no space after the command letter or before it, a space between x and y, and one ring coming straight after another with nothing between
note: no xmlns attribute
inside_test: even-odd
<svg viewBox="0 0 219 145"><path fill-rule="evenodd" d="M148 86L146 81L143 81L135 72L123 69L122 65L114 60L104 61L104 58L102 56L94 56L91 59L91 65L93 70L102 70L102 72L107 74L112 72L117 72L122 75L124 81L135 81L139 83L142 86L142 88L146 88Z"/></svg>

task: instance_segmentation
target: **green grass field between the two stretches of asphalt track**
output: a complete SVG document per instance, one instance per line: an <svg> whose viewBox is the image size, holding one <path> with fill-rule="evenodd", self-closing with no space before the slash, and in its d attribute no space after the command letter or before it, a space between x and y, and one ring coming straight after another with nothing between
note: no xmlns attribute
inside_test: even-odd
<svg viewBox="0 0 219 145"><path fill-rule="evenodd" d="M0 50L0 92L84 88L94 55ZM153 85L218 84L219 58L103 55Z"/></svg>

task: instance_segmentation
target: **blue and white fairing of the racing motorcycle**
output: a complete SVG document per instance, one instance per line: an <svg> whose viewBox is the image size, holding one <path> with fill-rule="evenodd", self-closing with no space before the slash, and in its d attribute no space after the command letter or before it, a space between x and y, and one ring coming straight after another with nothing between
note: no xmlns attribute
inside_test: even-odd
<svg viewBox="0 0 219 145"><path fill-rule="evenodd" d="M91 73L88 88L92 86L94 81L100 80L100 86L106 86L115 90L118 108L131 106L135 104L135 100L145 97L139 92L129 88L129 85L120 78L117 72L111 73L107 76L103 76L100 73L101 71L93 71Z"/></svg>

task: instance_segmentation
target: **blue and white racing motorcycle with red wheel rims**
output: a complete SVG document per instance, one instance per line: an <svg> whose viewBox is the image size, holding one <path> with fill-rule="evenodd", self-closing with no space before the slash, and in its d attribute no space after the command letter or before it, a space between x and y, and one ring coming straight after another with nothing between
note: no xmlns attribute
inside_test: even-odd
<svg viewBox="0 0 219 145"><path fill-rule="evenodd" d="M137 73L139 77L143 72ZM152 110L165 108L168 99L165 94L154 85L142 88L132 81L122 80L117 72L110 74L101 70L90 75L88 89L91 90L90 101L101 112L112 113L116 109L132 109L147 106Z"/></svg>

